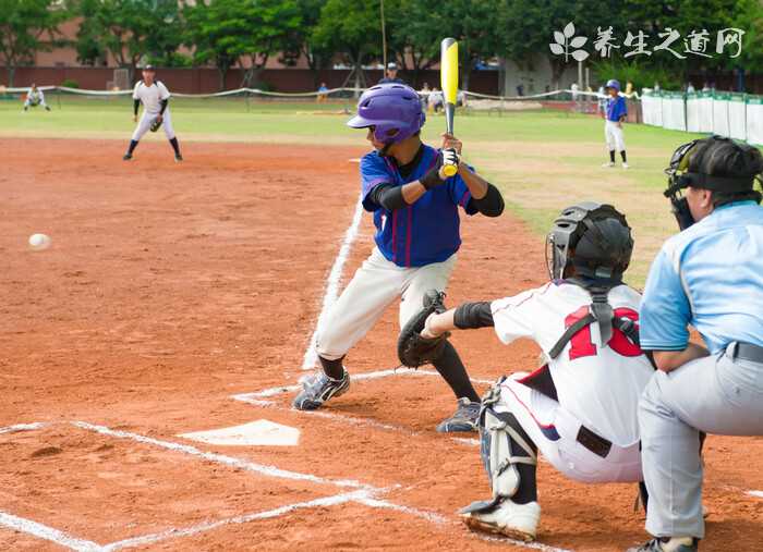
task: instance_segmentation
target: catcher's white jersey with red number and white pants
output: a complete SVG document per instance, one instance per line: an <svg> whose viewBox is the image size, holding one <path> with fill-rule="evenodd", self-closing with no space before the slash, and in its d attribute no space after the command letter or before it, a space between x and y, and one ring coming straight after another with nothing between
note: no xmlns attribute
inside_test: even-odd
<svg viewBox="0 0 763 552"><path fill-rule="evenodd" d="M638 292L619 285L608 297L616 316L638 321ZM491 309L501 342L530 338L548 358L566 329L589 314L591 300L584 289L561 281L495 300ZM543 368L505 380L494 407L511 412L546 459L579 481L642 479L637 414L654 369L622 332L613 331L603 347L598 326L585 327ZM558 400L547 388L545 393L537 390L544 387L538 381L549 381L548 375ZM589 432L611 442L604 456L581 442L581 434L586 441Z"/></svg>

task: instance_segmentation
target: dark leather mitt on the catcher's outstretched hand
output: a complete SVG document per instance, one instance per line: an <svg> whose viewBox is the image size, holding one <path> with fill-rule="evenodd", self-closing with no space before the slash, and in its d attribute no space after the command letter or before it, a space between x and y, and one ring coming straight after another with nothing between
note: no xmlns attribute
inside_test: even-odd
<svg viewBox="0 0 763 552"><path fill-rule="evenodd" d="M421 336L424 322L432 312L445 312L445 293L429 290L424 294L424 308L408 321L398 338L398 358L403 366L417 368L437 358L450 336L449 332L434 339Z"/></svg>

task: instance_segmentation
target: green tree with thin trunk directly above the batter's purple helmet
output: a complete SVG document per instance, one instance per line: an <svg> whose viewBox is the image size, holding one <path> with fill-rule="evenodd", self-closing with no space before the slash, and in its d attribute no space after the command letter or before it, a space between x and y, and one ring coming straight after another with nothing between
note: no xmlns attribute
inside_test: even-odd
<svg viewBox="0 0 763 552"><path fill-rule="evenodd" d="M362 87L363 63L378 58L382 50L378 0L328 0L312 40L319 48L341 54L353 68L355 87Z"/></svg>

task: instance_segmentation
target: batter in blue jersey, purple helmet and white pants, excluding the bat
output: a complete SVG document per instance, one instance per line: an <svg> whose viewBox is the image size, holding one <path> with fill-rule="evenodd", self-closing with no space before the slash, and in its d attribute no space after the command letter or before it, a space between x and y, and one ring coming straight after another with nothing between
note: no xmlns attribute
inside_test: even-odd
<svg viewBox="0 0 763 552"><path fill-rule="evenodd" d="M319 408L347 391L350 376L342 359L389 305L400 299L402 328L421 309L427 290L447 287L461 246L459 209L487 217L504 210L498 189L459 162L458 139L444 135L440 150L422 143L424 121L416 91L387 83L366 90L348 122L367 128L374 148L362 158L360 171L363 207L374 213L376 246L318 331L323 369L304 382L295 408ZM446 177L444 163L458 165L457 174ZM456 415L438 431L475 430L480 398L456 349L445 348L433 364L458 398Z"/></svg>

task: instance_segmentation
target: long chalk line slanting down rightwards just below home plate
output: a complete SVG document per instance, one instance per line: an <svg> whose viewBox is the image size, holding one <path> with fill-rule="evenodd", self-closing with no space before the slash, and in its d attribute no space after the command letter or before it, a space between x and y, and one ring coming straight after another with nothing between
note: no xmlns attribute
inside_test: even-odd
<svg viewBox="0 0 763 552"><path fill-rule="evenodd" d="M130 439L131 441L136 441L143 444L152 444L160 449L167 449L170 451L181 452L191 456L197 456L216 464L222 464L226 466L243 469L245 471L251 471L253 474L259 474L266 477L275 477L279 479L291 479L294 481L311 481L318 484L332 484L335 487L347 487L353 489L364 489L366 491L383 492L383 489L377 489L370 484L361 483L359 481L351 480L337 480L337 479L325 479L323 477L314 476L312 474L301 474L299 471L290 471L287 469L280 469L276 466L266 466L263 464L256 464L254 462L244 461L233 456L227 456L225 454L218 454L213 452L204 452L195 446L187 444L175 443L172 441L162 441L159 439L154 439L152 437L141 436L138 433L132 433L130 431L120 431L116 429L108 428L106 426L97 426L94 424L88 424L86 421L72 421L72 426L75 426L87 431L95 431L104 436L116 437L119 439Z"/></svg>

